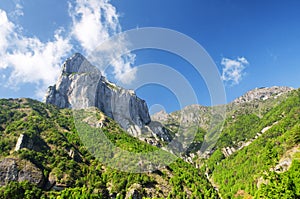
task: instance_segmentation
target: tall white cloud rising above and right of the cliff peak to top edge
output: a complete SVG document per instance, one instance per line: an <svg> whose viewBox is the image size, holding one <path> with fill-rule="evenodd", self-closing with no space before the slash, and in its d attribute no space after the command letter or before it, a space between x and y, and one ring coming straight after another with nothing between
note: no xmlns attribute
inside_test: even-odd
<svg viewBox="0 0 300 199"><path fill-rule="evenodd" d="M101 45L121 31L115 7L108 0L76 0L76 4L69 4L69 7L73 22L72 35L80 42L86 54L90 55L89 60L101 71L110 64L116 80L130 83L135 77L135 69L132 68L135 56L123 55L127 51L125 40Z"/></svg>

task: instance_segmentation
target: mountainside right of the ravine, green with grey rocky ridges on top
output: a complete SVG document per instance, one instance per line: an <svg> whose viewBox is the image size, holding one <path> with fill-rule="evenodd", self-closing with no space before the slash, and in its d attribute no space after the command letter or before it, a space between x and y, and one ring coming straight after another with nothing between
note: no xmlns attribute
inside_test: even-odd
<svg viewBox="0 0 300 199"><path fill-rule="evenodd" d="M193 105L171 114L158 113L152 118L174 129L198 123L202 130L198 131L185 160L206 173L222 198L298 198L299 100L300 90L288 87L249 91L227 105L220 137L204 155L199 149L210 120L210 107ZM180 118L185 118L181 119L183 123ZM282 165L285 172L276 173ZM273 183L274 179L280 180Z"/></svg>

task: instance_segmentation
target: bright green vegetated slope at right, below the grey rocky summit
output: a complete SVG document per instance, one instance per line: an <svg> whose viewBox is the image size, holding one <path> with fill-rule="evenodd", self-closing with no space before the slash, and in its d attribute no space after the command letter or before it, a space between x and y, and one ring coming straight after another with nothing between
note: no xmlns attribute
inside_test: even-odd
<svg viewBox="0 0 300 199"><path fill-rule="evenodd" d="M263 133L254 139L258 132ZM222 147L250 138L251 144L229 157L222 154ZM252 109L228 118L207 170L222 198L300 198L299 144L300 90L295 90L264 114Z"/></svg>

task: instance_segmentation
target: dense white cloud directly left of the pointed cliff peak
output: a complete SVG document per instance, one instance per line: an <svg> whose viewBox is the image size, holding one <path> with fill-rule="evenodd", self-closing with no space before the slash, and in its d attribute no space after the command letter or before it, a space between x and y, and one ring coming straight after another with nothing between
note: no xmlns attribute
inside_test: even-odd
<svg viewBox="0 0 300 199"><path fill-rule="evenodd" d="M72 47L59 33L46 43L27 37L20 37L16 42L18 48L6 54L7 64L13 67L9 84L37 83L42 88L55 82L62 58L68 55Z"/></svg>

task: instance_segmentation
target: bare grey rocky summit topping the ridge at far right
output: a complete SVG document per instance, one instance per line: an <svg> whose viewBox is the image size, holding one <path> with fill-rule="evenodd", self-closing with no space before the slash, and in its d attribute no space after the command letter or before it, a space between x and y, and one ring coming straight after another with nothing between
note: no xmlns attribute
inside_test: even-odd
<svg viewBox="0 0 300 199"><path fill-rule="evenodd" d="M287 93L294 88L286 86L261 87L248 91L246 94L235 99L232 103L246 103L254 100L267 100L269 98L277 98L278 96Z"/></svg>

